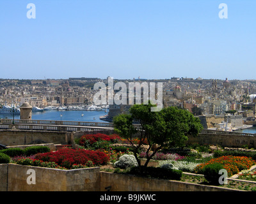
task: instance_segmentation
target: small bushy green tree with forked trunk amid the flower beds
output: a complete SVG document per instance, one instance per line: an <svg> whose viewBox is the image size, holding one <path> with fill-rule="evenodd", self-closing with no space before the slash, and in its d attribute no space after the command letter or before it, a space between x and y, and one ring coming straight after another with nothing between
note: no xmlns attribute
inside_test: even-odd
<svg viewBox="0 0 256 204"><path fill-rule="evenodd" d="M200 120L188 110L168 107L159 112L152 112L153 106L151 103L133 105L129 109L130 114L120 114L113 119L116 133L126 138L134 148L134 156L141 171L147 167L158 150L170 146L183 147L188 135L197 136L202 130ZM134 135L139 138L138 145L132 141ZM145 139L148 142L147 161L141 166L137 154ZM152 154L149 154L150 150Z"/></svg>

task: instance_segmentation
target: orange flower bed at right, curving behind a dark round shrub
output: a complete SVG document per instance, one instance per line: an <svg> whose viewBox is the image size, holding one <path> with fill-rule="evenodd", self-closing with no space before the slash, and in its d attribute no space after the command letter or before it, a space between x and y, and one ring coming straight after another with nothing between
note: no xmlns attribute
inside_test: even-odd
<svg viewBox="0 0 256 204"><path fill-rule="evenodd" d="M228 177L239 173L239 171L249 169L256 162L251 157L238 157L238 156L221 156L211 159L206 163L196 166L195 172L202 173L202 170L208 164L220 163L223 164L223 168L227 170Z"/></svg>

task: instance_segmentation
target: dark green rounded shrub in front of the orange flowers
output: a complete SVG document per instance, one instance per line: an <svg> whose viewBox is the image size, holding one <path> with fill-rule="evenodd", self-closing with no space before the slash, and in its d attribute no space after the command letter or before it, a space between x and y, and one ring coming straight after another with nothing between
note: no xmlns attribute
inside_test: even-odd
<svg viewBox="0 0 256 204"><path fill-rule="evenodd" d="M204 166L202 173L204 174L205 179L210 184L216 185L219 183L219 178L220 178L219 171L221 169L223 169L223 164L220 164L220 163L208 164Z"/></svg>

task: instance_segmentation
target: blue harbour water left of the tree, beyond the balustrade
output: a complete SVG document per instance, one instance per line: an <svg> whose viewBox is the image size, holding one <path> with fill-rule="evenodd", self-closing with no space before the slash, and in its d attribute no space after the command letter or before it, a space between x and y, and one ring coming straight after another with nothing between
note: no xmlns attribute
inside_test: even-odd
<svg viewBox="0 0 256 204"><path fill-rule="evenodd" d="M80 111L80 110L45 110L44 112L32 112L33 120L68 120L68 121L88 121L106 122L100 117L108 115L108 111ZM13 119L11 114L1 114L1 119ZM20 119L20 115L15 115L14 119Z"/></svg>

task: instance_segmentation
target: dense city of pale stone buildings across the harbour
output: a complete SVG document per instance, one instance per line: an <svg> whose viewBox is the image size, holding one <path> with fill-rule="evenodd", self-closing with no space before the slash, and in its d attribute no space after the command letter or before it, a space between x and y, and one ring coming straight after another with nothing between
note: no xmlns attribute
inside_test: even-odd
<svg viewBox="0 0 256 204"><path fill-rule="evenodd" d="M97 92L93 89L93 85L97 82L107 84L108 78L1 79L0 103L2 107L6 105L19 108L22 103L28 102L34 108L41 108L41 110L46 110L49 107L54 109L69 108L69 110L75 110L75 108L76 110L100 110L102 106L93 103L93 96ZM163 80L146 80L138 77L131 80L115 79L115 82L124 82L125 84L129 82L161 82L163 83L164 107L178 106L189 110L194 115L201 116L237 115L237 118L240 119L240 127L246 121L251 121L249 123L253 124L255 120L255 80L229 81L228 78L218 80L200 77L195 79L172 77ZM109 112L102 119L111 121L115 115L129 112L131 105L113 104L104 107L108 107ZM242 118L244 122L242 122ZM223 118L223 120L227 122L227 119ZM230 124L230 126L234 128L234 124ZM217 128L217 124L208 124L207 128Z"/></svg>

